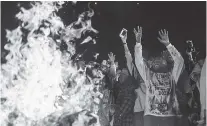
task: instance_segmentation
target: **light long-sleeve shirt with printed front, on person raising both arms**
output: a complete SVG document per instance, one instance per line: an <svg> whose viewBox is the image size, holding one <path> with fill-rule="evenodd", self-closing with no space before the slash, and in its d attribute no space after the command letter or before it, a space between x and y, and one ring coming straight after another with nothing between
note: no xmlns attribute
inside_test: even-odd
<svg viewBox="0 0 207 126"><path fill-rule="evenodd" d="M183 70L184 60L177 49L169 44L167 49L174 60L172 71L151 71L142 57L142 45L135 45L135 64L146 84L145 115L174 116L179 112L175 86Z"/></svg>

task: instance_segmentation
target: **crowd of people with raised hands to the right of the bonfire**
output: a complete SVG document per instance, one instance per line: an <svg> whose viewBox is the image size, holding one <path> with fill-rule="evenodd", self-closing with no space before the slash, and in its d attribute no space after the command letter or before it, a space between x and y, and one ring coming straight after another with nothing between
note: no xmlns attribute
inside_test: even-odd
<svg viewBox="0 0 207 126"><path fill-rule="evenodd" d="M142 55L142 27L134 29L134 34L134 58L127 46L127 32L120 34L125 51L125 68L119 67L113 53L108 55L109 62L104 60L99 65L106 75L101 88L101 125L204 126L205 59L194 62L191 50L187 50L192 61L188 63L192 67L190 69L170 43L166 30L159 31L158 40L166 46L167 51L158 57L146 59ZM192 46L191 41L187 43ZM99 74L97 66L93 66L86 72L96 78Z"/></svg>

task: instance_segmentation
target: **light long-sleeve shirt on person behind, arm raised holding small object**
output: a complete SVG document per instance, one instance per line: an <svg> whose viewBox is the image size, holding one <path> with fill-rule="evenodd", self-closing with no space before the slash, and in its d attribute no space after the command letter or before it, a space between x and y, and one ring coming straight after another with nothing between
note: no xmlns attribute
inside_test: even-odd
<svg viewBox="0 0 207 126"><path fill-rule="evenodd" d="M137 85L139 85L138 88L135 89L137 96L134 105L134 112L141 112L144 111L145 108L146 86L142 81L142 78L139 75L139 72L135 64L133 63L133 59L127 44L124 44L124 50L125 50L125 57L127 61L127 68L130 72L130 75L134 77L134 79L136 80Z"/></svg>

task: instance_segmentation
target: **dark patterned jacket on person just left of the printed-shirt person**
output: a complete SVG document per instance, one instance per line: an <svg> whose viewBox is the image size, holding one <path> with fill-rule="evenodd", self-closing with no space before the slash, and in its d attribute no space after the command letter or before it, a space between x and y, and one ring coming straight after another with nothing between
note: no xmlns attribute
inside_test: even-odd
<svg viewBox="0 0 207 126"><path fill-rule="evenodd" d="M126 72L123 72L125 74ZM126 77L127 76L127 77ZM132 78L128 75L120 75L117 85L117 99L115 101L114 126L131 126L133 119L133 109L135 103L135 86ZM125 78L125 79L123 79Z"/></svg>

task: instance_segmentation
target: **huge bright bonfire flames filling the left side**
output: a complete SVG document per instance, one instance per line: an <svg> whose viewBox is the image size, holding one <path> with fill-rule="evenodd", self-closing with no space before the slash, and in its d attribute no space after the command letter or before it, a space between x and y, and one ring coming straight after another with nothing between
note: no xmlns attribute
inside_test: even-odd
<svg viewBox="0 0 207 126"><path fill-rule="evenodd" d="M97 78L86 81L86 72L80 73L71 60L76 50L74 41L86 31L98 33L91 26L94 12L82 13L78 21L65 27L57 15L63 4L65 2L42 1L31 3L30 9L21 7L16 14L20 25L6 30L9 43L5 49L9 54L0 74L1 98L6 99L1 105L2 126L9 123L52 126L57 125L64 113L71 115L83 110L90 111L98 119L97 99L102 94L93 91L99 88L94 85ZM76 28L77 25L81 27ZM83 43L91 39L89 36ZM67 43L67 51L60 50L61 41ZM101 74L98 82L103 77ZM78 115L73 125L81 126L90 120L85 115ZM96 125L100 125L99 121Z"/></svg>

